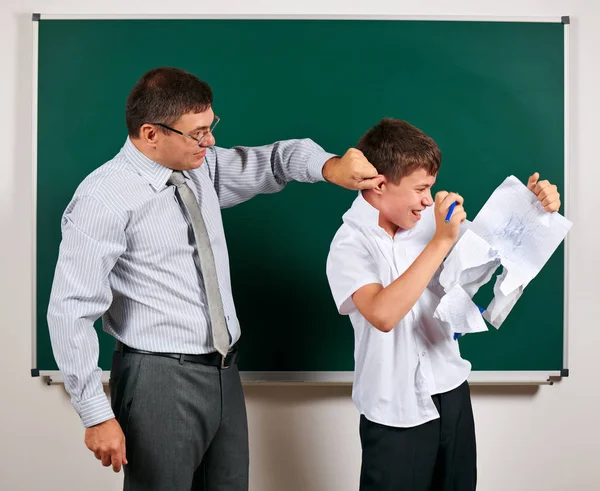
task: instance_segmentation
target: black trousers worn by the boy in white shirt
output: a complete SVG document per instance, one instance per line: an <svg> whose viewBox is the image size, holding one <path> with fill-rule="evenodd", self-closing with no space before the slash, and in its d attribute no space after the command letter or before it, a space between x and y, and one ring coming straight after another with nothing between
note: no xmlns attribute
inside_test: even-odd
<svg viewBox="0 0 600 491"><path fill-rule="evenodd" d="M467 382L436 394L438 419L395 428L360 417L360 491L473 491L475 425Z"/></svg>

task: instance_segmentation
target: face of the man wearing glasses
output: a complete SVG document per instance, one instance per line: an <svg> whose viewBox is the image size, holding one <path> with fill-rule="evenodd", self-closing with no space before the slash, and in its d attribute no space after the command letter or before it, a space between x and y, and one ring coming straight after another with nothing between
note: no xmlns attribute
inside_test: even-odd
<svg viewBox="0 0 600 491"><path fill-rule="evenodd" d="M206 135L202 139L202 143L199 145L191 138L167 130L166 134L159 135L156 161L174 170L190 170L200 167L206 155L206 147L215 144L214 136L209 132L214 119L215 113L210 107L201 113L184 114L171 128L198 140Z"/></svg>

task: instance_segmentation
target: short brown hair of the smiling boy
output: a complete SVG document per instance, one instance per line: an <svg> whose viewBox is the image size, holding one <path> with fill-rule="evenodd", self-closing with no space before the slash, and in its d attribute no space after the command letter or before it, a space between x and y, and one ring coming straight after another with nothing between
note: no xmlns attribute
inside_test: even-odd
<svg viewBox="0 0 600 491"><path fill-rule="evenodd" d="M432 138L400 119L384 118L356 146L394 184L419 169L436 175L442 154Z"/></svg>

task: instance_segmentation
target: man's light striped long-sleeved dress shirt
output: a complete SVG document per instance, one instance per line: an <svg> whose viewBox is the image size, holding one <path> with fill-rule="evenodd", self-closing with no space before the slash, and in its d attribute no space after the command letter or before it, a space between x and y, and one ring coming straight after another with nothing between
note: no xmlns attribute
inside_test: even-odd
<svg viewBox="0 0 600 491"><path fill-rule="evenodd" d="M308 139L210 147L200 168L184 172L206 222L233 343L240 326L220 208L280 191L292 180L323 180L332 156ZM214 351L196 246L175 189L167 185L171 172L127 139L114 159L80 184L64 212L48 326L65 387L86 427L114 417L98 367L93 323L100 316L106 332L133 348Z"/></svg>

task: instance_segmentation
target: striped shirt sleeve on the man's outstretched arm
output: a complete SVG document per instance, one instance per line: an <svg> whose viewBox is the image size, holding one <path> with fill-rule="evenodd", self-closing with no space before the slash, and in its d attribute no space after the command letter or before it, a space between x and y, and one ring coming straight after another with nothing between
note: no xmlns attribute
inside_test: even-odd
<svg viewBox="0 0 600 491"><path fill-rule="evenodd" d="M207 162L221 208L243 203L257 194L276 193L290 181L323 181L323 165L335 157L310 139L210 150Z"/></svg>

